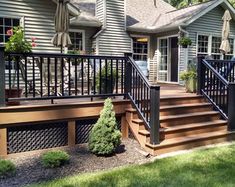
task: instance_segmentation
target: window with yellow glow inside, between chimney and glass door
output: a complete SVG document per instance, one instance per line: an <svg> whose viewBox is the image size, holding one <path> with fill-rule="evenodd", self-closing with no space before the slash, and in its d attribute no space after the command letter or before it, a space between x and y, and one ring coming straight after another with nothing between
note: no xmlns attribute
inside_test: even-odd
<svg viewBox="0 0 235 187"><path fill-rule="evenodd" d="M147 61L148 38L133 38L133 59L136 61Z"/></svg>

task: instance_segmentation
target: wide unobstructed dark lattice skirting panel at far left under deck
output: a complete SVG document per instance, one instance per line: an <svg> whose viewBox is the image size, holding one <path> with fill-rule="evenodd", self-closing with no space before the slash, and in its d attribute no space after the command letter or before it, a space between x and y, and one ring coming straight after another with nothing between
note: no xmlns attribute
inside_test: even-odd
<svg viewBox="0 0 235 187"><path fill-rule="evenodd" d="M68 144L67 122L12 127L7 131L9 154Z"/></svg>

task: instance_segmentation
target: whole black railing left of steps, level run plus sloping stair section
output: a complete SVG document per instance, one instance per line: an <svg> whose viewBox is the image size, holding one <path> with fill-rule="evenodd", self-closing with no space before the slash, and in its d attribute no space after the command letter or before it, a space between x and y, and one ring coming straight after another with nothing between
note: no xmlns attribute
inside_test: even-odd
<svg viewBox="0 0 235 187"><path fill-rule="evenodd" d="M159 143L160 87L152 86L129 57L6 53L0 48L0 106L22 100L130 98ZM8 96L5 95L8 90ZM16 91L16 97L11 93ZM21 93L22 92L22 93Z"/></svg>

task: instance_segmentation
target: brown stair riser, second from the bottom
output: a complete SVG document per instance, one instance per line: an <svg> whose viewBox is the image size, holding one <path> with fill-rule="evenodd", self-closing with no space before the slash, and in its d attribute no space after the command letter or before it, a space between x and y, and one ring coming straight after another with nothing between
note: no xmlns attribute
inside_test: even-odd
<svg viewBox="0 0 235 187"><path fill-rule="evenodd" d="M205 128L191 128L191 129L186 129L186 130L181 130L181 131L173 131L173 132L166 132L164 137L165 139L170 139L170 138L178 138L178 137L184 137L184 136L189 136L189 135L196 135L196 134L201 134L201 133L210 133L210 132L218 132L218 131L226 131L227 126L226 125L217 125L217 126L210 126L210 127L205 127Z"/></svg>

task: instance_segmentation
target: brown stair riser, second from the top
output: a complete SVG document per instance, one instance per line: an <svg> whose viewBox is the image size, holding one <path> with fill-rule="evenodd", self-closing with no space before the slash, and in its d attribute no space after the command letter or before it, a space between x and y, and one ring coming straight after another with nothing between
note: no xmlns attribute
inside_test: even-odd
<svg viewBox="0 0 235 187"><path fill-rule="evenodd" d="M212 106L194 106L194 107L164 109L160 111L160 116L181 115L181 114L189 114L189 113L194 113L194 112L208 112L212 110L213 110Z"/></svg>

